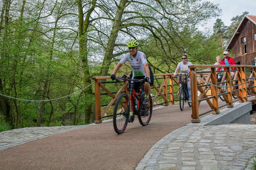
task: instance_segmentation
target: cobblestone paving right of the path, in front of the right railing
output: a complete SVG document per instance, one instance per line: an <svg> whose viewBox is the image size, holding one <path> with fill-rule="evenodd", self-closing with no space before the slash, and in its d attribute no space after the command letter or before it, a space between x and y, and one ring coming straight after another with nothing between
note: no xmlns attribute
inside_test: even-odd
<svg viewBox="0 0 256 170"><path fill-rule="evenodd" d="M188 124L158 141L136 170L249 170L255 153L256 125Z"/></svg>

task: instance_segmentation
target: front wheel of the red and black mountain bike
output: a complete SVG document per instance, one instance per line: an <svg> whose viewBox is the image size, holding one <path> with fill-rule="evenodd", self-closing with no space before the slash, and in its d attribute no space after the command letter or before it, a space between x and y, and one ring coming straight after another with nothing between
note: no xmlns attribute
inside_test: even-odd
<svg viewBox="0 0 256 170"><path fill-rule="evenodd" d="M113 113L113 126L117 134L121 134L125 131L128 123L129 109L125 113L128 102L128 96L125 93L119 95L116 100Z"/></svg>

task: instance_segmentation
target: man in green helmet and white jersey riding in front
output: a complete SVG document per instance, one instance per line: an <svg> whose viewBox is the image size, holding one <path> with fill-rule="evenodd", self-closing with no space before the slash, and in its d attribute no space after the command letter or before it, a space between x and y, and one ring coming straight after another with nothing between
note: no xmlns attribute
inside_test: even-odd
<svg viewBox="0 0 256 170"><path fill-rule="evenodd" d="M144 91L145 91L145 98L143 100L143 105L148 104L148 97L150 93L150 71L149 66L147 64L147 59L145 57L145 54L141 51L138 51L139 43L137 40L130 40L127 43L129 53L127 53L122 60L119 61L119 63L114 68L111 79L114 80L116 78L116 73L119 70L119 68L128 61L132 67L132 79L140 80L143 79L144 82ZM134 90L137 92L139 87L139 83L134 82ZM132 122L133 120L133 109L132 105L130 105L130 116L129 116L129 122Z"/></svg>

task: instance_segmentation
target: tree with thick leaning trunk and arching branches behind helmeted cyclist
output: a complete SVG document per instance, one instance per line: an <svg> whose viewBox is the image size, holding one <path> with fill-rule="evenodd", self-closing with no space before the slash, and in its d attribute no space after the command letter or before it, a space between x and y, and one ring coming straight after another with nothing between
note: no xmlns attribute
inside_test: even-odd
<svg viewBox="0 0 256 170"><path fill-rule="evenodd" d="M172 52L169 42L179 37L179 29L186 25L196 25L211 17L218 16L220 10L210 2L199 1L127 1L113 3L107 7L112 20L112 29L107 39L106 50L100 75L108 74L109 65L116 56L126 53L128 39L153 36L165 53ZM105 6L106 7L106 6ZM113 10L114 9L114 10ZM109 14L110 13L110 14ZM112 17L114 16L114 17ZM170 32L173 32L170 34ZM166 45L166 46L165 46Z"/></svg>

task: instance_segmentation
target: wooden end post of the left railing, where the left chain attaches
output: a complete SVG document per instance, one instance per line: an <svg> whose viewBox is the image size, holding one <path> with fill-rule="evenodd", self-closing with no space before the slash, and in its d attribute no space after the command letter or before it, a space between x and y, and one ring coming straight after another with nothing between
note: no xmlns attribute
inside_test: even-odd
<svg viewBox="0 0 256 170"><path fill-rule="evenodd" d="M93 77L95 78L95 77ZM93 79L92 78L92 79ZM94 123L102 123L100 114L101 114L101 108L100 108L100 79L94 79L94 85L95 85L95 121Z"/></svg>

